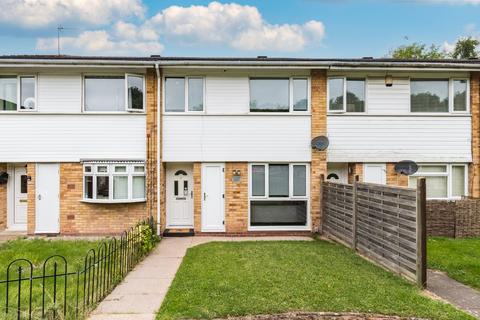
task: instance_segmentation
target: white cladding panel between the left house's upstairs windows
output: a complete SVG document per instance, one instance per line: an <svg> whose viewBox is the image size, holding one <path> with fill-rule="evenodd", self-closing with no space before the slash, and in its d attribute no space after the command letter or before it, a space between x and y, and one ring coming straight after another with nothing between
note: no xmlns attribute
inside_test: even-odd
<svg viewBox="0 0 480 320"><path fill-rule="evenodd" d="M37 79L37 98L39 112L81 112L82 77L80 74L40 74Z"/></svg>

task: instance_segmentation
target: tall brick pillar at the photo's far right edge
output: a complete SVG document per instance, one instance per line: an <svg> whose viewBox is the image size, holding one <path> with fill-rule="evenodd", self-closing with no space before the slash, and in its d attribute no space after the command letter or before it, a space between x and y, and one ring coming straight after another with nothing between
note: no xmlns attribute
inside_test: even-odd
<svg viewBox="0 0 480 320"><path fill-rule="evenodd" d="M472 163L468 168L469 194L480 198L480 72L470 76L470 112L472 114Z"/></svg>

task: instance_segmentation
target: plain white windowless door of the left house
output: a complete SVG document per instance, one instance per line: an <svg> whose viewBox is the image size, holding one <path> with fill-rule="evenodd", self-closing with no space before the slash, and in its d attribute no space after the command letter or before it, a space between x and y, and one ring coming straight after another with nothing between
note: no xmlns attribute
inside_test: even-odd
<svg viewBox="0 0 480 320"><path fill-rule="evenodd" d="M36 233L60 231L60 174L58 163L39 163L36 172Z"/></svg>

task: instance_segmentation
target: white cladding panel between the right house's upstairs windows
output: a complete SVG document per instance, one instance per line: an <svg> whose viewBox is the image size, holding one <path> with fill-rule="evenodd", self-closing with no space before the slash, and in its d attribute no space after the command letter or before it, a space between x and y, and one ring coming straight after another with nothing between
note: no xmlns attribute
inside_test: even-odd
<svg viewBox="0 0 480 320"><path fill-rule="evenodd" d="M394 78L393 86L387 87L384 78L368 78L367 112L369 114L410 113L410 81Z"/></svg>

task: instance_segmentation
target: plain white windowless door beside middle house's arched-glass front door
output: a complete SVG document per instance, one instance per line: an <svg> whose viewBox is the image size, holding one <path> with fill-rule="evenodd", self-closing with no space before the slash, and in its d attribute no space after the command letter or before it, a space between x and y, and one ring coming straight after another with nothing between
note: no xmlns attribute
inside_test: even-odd
<svg viewBox="0 0 480 320"><path fill-rule="evenodd" d="M225 231L225 165L202 165L202 232Z"/></svg>

